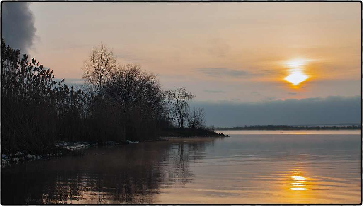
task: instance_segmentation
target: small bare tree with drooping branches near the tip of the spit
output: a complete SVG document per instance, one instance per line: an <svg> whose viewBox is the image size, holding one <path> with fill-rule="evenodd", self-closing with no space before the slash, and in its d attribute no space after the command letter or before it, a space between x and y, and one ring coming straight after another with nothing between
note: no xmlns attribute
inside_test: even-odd
<svg viewBox="0 0 363 206"><path fill-rule="evenodd" d="M184 87L174 87L174 90L166 90L166 96L167 104L170 105L171 119L178 122L179 128L183 129L188 117L189 102L195 97L195 94L188 92Z"/></svg>

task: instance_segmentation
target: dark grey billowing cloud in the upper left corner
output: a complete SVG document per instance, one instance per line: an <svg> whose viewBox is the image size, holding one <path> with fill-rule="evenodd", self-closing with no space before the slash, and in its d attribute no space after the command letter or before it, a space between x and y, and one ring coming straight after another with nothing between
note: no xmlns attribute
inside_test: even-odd
<svg viewBox="0 0 363 206"><path fill-rule="evenodd" d="M22 53L33 46L36 28L35 17L27 2L4 2L2 19L2 38L5 44Z"/></svg>

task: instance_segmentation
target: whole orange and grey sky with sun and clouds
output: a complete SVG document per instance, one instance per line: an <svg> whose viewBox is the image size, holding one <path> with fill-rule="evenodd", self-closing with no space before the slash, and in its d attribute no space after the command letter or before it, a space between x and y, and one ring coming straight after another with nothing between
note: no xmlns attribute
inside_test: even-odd
<svg viewBox="0 0 363 206"><path fill-rule="evenodd" d="M67 84L82 82L90 49L105 43L119 64L140 64L164 89L195 93L192 105L205 109L207 124L359 123L360 8L357 2L2 3L2 36ZM300 116L287 115L289 106Z"/></svg>

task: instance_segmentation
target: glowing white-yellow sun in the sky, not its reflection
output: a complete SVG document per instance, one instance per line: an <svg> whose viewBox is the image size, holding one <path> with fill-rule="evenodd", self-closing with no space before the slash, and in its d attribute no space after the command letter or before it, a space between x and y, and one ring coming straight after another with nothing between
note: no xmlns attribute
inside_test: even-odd
<svg viewBox="0 0 363 206"><path fill-rule="evenodd" d="M284 80L290 82L294 86L307 80L309 76L304 73L304 66L307 62L308 60L305 59L293 59L285 62L285 66L289 68L289 75L287 75Z"/></svg>

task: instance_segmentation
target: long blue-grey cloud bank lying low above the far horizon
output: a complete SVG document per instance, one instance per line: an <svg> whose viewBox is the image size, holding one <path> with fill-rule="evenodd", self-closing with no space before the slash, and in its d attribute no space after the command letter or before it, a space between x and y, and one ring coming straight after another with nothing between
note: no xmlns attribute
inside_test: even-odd
<svg viewBox="0 0 363 206"><path fill-rule="evenodd" d="M267 102L192 102L203 107L207 125L294 125L360 122L360 96L311 97Z"/></svg>

